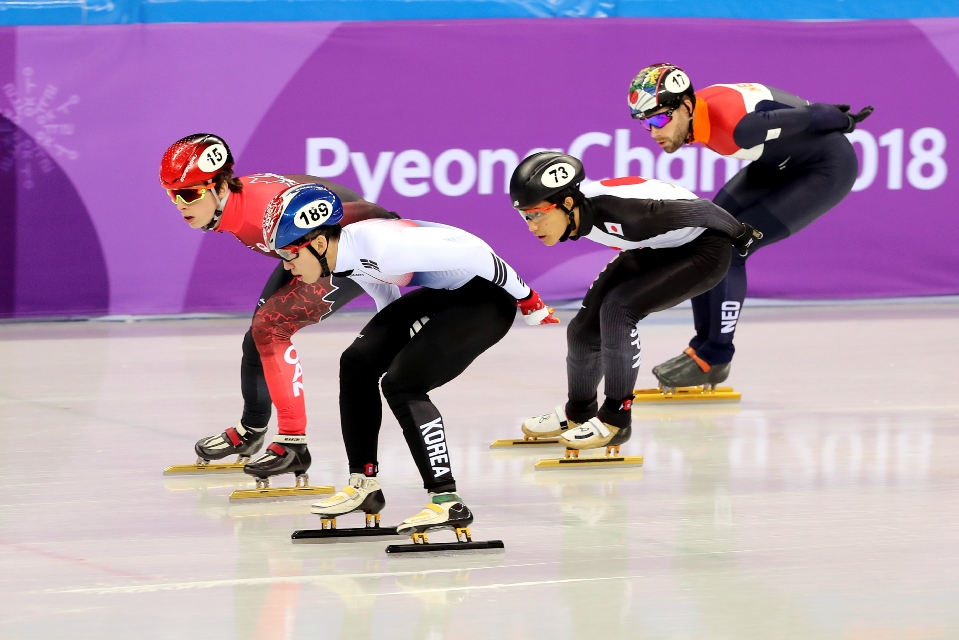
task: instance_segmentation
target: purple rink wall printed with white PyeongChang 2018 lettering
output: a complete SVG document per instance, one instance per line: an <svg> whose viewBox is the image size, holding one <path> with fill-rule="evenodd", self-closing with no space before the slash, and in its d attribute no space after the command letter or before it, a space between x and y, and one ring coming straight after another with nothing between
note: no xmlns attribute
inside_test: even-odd
<svg viewBox="0 0 959 640"><path fill-rule="evenodd" d="M935 106L959 102L957 19L19 27L0 29L0 316L252 311L274 263L188 228L157 184L164 149L198 131L242 174L327 175L480 235L547 299L578 297L612 253L540 246L491 159L558 148L591 179L711 197L724 161L663 156L629 118L630 79L660 60L697 86L876 106L853 134L857 191L756 254L751 296L959 293L959 125Z"/></svg>

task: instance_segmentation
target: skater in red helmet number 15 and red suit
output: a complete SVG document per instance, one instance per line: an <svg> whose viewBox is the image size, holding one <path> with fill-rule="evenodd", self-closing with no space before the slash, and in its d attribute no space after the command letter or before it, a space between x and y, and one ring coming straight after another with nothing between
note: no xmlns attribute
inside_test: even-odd
<svg viewBox="0 0 959 640"><path fill-rule="evenodd" d="M160 185L194 229L230 233L250 249L277 259L263 242L263 215L280 192L303 183L322 182L343 203L342 224L370 218L398 218L355 192L326 179L307 175L258 173L236 177L230 148L219 136L198 133L176 141L160 162ZM315 324L363 293L351 280L330 277L305 283L278 262L267 279L243 338L240 387L243 414L235 427L196 443L198 464L231 455L248 460L266 438L271 404L276 406L279 434L267 451L244 471L269 478L310 464L306 446L303 369L291 343L296 331Z"/></svg>

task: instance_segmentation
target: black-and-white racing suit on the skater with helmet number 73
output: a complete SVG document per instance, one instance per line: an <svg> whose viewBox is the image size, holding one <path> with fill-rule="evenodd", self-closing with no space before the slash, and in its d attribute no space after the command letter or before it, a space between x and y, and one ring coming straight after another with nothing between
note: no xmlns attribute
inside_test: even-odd
<svg viewBox="0 0 959 640"><path fill-rule="evenodd" d="M622 249L590 285L566 332L566 416L630 425L640 364L637 324L713 288L743 225L709 200L658 180L617 178L582 187L573 239ZM605 378L603 406L597 387Z"/></svg>

